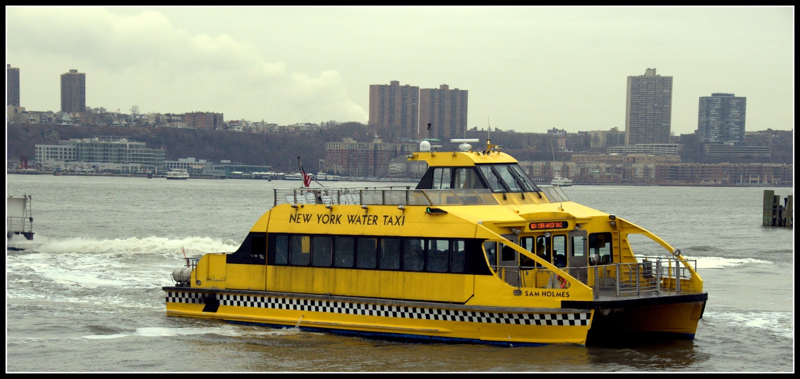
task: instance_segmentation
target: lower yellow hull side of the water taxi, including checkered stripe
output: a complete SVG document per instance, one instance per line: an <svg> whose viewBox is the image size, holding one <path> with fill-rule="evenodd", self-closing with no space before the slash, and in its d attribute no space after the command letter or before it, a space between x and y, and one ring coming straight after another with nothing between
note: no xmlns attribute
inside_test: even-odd
<svg viewBox="0 0 800 379"><path fill-rule="evenodd" d="M450 305L357 297L166 288L169 316L326 329L402 340L585 345L592 311Z"/></svg>

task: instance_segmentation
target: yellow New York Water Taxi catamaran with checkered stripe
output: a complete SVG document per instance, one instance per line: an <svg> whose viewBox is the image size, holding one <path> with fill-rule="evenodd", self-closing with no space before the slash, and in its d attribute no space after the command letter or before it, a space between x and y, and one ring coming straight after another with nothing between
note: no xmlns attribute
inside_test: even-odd
<svg viewBox="0 0 800 379"><path fill-rule="evenodd" d="M511 346L694 337L696 261L534 185L489 141L454 142L409 155L428 164L416 188L275 189L237 251L173 271L166 314ZM632 235L662 253L634 255Z"/></svg>

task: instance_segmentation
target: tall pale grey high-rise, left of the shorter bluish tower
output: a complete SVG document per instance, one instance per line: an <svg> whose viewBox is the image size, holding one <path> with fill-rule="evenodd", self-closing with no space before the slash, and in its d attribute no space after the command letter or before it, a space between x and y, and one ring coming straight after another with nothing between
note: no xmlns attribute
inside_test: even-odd
<svg viewBox="0 0 800 379"><path fill-rule="evenodd" d="M625 144L670 143L672 77L655 69L629 76L625 106Z"/></svg>

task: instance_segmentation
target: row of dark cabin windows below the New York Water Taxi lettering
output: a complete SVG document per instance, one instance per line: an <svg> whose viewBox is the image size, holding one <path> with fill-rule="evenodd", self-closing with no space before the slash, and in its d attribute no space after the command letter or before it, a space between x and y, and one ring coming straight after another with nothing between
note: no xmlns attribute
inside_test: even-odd
<svg viewBox="0 0 800 379"><path fill-rule="evenodd" d="M276 234L271 240L274 265L464 272L464 240L302 234Z"/></svg>

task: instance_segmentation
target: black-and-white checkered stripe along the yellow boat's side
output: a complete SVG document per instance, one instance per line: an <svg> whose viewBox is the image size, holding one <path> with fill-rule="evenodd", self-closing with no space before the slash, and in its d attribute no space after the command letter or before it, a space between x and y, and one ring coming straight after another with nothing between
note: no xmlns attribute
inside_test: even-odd
<svg viewBox="0 0 800 379"><path fill-rule="evenodd" d="M186 296L183 296L186 295ZM361 316L417 318L422 320L467 321L489 324L516 325L589 325L590 314L581 313L494 313L473 312L455 309L420 308L396 305L377 305L344 301L294 299L287 297L264 297L245 295L217 295L219 305L250 308L290 309L309 312L344 313ZM202 295L195 293L167 293L166 301L202 302Z"/></svg>

